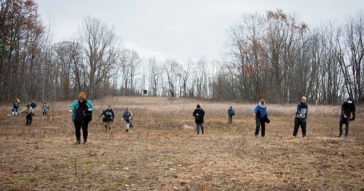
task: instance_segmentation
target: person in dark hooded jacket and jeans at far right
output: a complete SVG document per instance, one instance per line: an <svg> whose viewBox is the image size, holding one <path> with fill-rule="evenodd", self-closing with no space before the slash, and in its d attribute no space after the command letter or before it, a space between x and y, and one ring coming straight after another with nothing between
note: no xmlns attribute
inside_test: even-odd
<svg viewBox="0 0 364 191"><path fill-rule="evenodd" d="M351 113L353 113L353 118L350 118ZM355 120L355 104L353 103L353 99L349 97L346 102L341 105L341 115L339 122L339 135L341 137L343 135L343 124L345 124L345 138L348 137L349 134L349 123Z"/></svg>

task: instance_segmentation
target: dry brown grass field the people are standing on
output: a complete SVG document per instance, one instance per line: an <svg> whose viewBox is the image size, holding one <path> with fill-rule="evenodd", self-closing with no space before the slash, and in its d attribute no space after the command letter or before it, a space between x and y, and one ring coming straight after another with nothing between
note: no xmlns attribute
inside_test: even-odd
<svg viewBox="0 0 364 191"><path fill-rule="evenodd" d="M52 117L32 127L24 114L0 111L1 190L364 190L363 108L357 107L348 138L337 138L340 107L309 105L307 138L292 139L296 105L270 105L266 138L254 138L256 104L194 99L107 98L92 101L95 114L88 144L75 145L67 112L55 104ZM205 135L191 116L205 110ZM104 132L101 110L116 117ZM227 124L227 109L237 115ZM131 108L135 124L124 131L121 115Z"/></svg>

